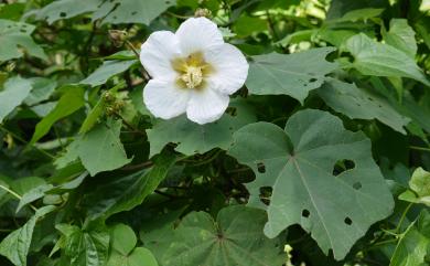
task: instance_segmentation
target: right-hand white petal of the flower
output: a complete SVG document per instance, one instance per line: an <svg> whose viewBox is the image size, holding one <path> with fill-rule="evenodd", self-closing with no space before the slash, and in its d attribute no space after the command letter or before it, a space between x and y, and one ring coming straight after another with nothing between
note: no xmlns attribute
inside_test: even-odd
<svg viewBox="0 0 430 266"><path fill-rule="evenodd" d="M208 50L204 54L206 63L214 67L207 82L223 94L234 94L244 86L249 64L244 54L232 44Z"/></svg>

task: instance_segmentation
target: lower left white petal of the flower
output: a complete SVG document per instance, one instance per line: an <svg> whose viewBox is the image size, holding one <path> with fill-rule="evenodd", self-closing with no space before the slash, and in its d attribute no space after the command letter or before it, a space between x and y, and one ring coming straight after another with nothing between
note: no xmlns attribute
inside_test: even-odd
<svg viewBox="0 0 430 266"><path fill-rule="evenodd" d="M151 79L143 89L143 102L155 117L170 119L185 113L190 95L190 89L180 88L173 79Z"/></svg>

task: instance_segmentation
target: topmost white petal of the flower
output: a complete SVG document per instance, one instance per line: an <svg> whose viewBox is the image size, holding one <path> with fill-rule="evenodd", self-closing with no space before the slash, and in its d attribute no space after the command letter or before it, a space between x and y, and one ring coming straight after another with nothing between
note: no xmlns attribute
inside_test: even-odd
<svg viewBox="0 0 430 266"><path fill-rule="evenodd" d="M223 34L216 24L206 18L187 19L180 25L175 34L185 56L224 43Z"/></svg>

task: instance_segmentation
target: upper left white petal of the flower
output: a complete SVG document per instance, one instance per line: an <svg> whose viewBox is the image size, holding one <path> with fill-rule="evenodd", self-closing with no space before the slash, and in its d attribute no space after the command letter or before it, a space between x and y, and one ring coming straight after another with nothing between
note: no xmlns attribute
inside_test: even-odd
<svg viewBox="0 0 430 266"><path fill-rule="evenodd" d="M142 44L140 62L154 78L173 78L172 60L181 56L178 38L170 31L152 33Z"/></svg>

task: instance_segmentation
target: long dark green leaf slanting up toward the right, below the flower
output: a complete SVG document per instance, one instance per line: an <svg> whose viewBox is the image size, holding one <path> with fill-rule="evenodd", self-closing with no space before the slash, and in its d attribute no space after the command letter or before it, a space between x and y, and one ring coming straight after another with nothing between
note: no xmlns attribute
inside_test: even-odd
<svg viewBox="0 0 430 266"><path fill-rule="evenodd" d="M140 205L164 180L174 162L174 155L168 151L161 152L154 159L154 166L150 170L138 171L98 185L86 201L89 205L90 219L107 219L115 213Z"/></svg>

